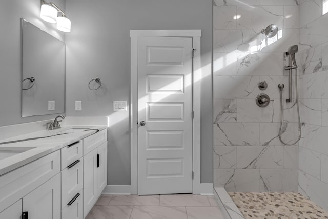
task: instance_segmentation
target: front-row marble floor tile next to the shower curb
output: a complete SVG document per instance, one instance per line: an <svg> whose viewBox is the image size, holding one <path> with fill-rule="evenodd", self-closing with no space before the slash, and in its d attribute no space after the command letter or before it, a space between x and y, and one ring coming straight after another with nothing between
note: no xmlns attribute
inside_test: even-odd
<svg viewBox="0 0 328 219"><path fill-rule="evenodd" d="M224 218L218 207L186 207L188 219L221 219Z"/></svg>

